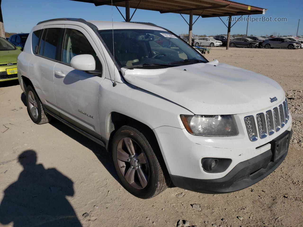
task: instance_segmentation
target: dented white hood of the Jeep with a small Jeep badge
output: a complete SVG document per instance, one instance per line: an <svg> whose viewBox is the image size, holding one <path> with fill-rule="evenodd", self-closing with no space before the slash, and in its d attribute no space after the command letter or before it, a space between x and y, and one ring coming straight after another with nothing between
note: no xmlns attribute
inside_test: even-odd
<svg viewBox="0 0 303 227"><path fill-rule="evenodd" d="M212 61L164 69L125 69L126 81L171 100L195 114L239 114L271 107L285 97L274 80Z"/></svg>

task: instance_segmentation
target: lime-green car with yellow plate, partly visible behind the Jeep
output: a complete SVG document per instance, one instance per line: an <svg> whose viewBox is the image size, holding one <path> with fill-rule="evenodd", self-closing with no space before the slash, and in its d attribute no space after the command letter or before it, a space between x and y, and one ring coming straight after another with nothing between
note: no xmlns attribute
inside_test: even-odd
<svg viewBox="0 0 303 227"><path fill-rule="evenodd" d="M0 37L0 82L17 80L17 57L21 47L15 47Z"/></svg>

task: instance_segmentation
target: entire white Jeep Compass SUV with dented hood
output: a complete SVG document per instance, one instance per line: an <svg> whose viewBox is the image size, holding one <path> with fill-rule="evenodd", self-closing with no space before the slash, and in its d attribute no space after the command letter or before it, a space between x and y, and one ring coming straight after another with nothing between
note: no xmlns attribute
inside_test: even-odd
<svg viewBox="0 0 303 227"><path fill-rule="evenodd" d="M139 198L171 181L204 193L244 189L288 152L291 115L277 82L209 62L154 24L42 21L17 64L33 122L54 117L105 146Z"/></svg>

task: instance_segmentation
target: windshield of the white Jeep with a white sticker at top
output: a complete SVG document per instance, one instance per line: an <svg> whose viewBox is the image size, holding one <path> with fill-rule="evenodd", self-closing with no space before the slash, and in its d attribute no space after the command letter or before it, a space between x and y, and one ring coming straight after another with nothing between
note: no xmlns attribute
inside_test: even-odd
<svg viewBox="0 0 303 227"><path fill-rule="evenodd" d="M149 29L99 30L103 41L120 67L178 66L208 62L195 49L168 31ZM179 62L180 61L180 62Z"/></svg>

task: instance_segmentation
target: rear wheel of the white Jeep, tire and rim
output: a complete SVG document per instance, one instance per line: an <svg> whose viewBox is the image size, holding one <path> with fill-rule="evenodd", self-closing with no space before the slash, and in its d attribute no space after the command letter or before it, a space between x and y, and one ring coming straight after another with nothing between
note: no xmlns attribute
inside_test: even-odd
<svg viewBox="0 0 303 227"><path fill-rule="evenodd" d="M44 112L42 103L31 85L26 89L26 104L28 115L34 123L45 124L52 119L52 116Z"/></svg>

